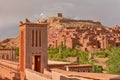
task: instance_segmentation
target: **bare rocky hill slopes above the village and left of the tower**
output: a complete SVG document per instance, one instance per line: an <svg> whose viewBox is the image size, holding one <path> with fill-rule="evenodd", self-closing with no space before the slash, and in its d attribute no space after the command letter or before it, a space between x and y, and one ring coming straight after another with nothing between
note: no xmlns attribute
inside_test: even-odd
<svg viewBox="0 0 120 80"><path fill-rule="evenodd" d="M65 27L105 27L99 21L92 20L74 20L62 17L58 13L56 17L38 20L37 23L48 23L48 35L61 30ZM1 48L15 48L19 46L19 36L16 38L7 38L0 42Z"/></svg>

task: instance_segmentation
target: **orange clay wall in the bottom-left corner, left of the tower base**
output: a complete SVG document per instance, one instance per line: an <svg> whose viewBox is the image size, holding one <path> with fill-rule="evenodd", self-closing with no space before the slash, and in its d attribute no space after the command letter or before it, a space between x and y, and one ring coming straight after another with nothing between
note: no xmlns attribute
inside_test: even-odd
<svg viewBox="0 0 120 80"><path fill-rule="evenodd" d="M0 80L20 80L19 63L0 59Z"/></svg>

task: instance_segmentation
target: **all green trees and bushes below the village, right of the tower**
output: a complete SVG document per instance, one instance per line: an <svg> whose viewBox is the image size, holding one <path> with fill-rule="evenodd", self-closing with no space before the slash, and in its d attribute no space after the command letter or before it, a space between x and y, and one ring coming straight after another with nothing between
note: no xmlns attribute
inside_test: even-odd
<svg viewBox="0 0 120 80"><path fill-rule="evenodd" d="M120 47L109 45L107 49L97 51L94 55L99 58L108 58L106 62L108 73L120 74ZM94 65L95 61L88 59L88 52L79 50L78 46L74 49L65 46L48 49L48 58L51 60L66 61L68 57L77 57L76 63L78 64L93 64L93 72L101 73L103 71L102 66Z"/></svg>

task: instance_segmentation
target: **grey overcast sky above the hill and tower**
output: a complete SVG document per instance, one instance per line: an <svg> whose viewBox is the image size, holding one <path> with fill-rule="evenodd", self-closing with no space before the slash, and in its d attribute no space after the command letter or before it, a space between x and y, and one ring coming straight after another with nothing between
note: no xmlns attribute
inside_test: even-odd
<svg viewBox="0 0 120 80"><path fill-rule="evenodd" d="M63 16L101 21L105 26L120 24L120 0L0 0L0 40L19 33L19 21Z"/></svg>

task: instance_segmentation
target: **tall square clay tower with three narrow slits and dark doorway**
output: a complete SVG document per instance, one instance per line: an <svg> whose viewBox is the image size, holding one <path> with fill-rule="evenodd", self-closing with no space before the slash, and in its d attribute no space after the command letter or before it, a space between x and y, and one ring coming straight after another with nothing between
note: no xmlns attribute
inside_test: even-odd
<svg viewBox="0 0 120 80"><path fill-rule="evenodd" d="M20 71L25 68L43 73L47 68L47 24L20 22ZM23 74L24 75L24 74Z"/></svg>

